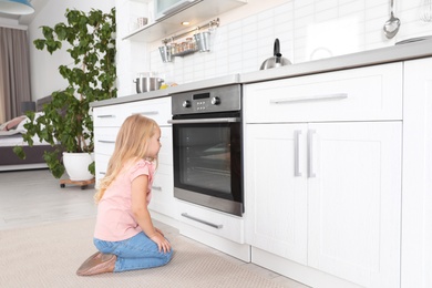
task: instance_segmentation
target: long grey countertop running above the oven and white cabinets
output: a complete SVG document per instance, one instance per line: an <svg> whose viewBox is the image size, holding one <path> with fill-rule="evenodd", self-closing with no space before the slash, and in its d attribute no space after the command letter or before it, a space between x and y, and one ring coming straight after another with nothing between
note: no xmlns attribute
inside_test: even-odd
<svg viewBox="0 0 432 288"><path fill-rule="evenodd" d="M416 41L405 44L393 45L369 50L352 54L327 58L322 60L302 62L298 64L281 66L277 69L261 70L243 74L232 74L227 76L202 80L191 83L172 86L164 90L151 91L130 96L109 99L91 103L92 107L121 104L141 100L163 97L186 91L204 90L212 86L223 86L229 84L247 84L277 79L316 74L337 70L377 65L398 61L413 60L432 56L432 39Z"/></svg>

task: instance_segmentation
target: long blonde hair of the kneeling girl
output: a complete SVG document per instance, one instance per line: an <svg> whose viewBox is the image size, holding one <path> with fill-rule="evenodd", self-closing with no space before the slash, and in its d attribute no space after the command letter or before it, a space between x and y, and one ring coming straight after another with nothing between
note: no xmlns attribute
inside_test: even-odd
<svg viewBox="0 0 432 288"><path fill-rule="evenodd" d="M155 134L157 123L140 114L128 116L120 127L115 140L113 155L110 158L106 174L97 185L94 199L99 203L106 188L119 175L126 163L135 163L145 158L147 154L148 140ZM155 160L151 160L155 161Z"/></svg>

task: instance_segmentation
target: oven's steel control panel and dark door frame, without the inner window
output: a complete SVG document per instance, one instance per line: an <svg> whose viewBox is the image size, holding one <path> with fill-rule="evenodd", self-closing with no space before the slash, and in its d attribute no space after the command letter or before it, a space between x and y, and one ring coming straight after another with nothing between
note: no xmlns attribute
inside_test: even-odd
<svg viewBox="0 0 432 288"><path fill-rule="evenodd" d="M196 96L198 95L198 96ZM196 100L196 101L195 101ZM173 154L174 154L174 197L212 209L241 216L244 213L243 184L243 125L241 86L224 86L173 95ZM194 185L181 182L181 148L177 141L179 131L185 127L229 128L230 193L202 192ZM184 160L183 160L184 161ZM220 193L219 193L220 194Z"/></svg>

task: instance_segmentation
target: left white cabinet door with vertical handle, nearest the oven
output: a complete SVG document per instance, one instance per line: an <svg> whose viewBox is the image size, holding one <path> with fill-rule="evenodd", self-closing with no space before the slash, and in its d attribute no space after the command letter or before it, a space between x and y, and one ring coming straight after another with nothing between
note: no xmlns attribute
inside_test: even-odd
<svg viewBox="0 0 432 288"><path fill-rule="evenodd" d="M306 124L246 125L248 244L307 261Z"/></svg>

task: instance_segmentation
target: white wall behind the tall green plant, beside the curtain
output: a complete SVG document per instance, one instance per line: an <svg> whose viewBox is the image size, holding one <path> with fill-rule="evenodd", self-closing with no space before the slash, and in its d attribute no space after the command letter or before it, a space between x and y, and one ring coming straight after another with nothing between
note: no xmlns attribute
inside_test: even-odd
<svg viewBox="0 0 432 288"><path fill-rule="evenodd" d="M84 12L92 8L102 11L110 11L115 6L114 0L49 0L48 3L38 11L38 14L29 24L30 38L30 61L31 61L31 89L32 99L37 100L51 94L56 90L62 90L68 82L60 75L58 68L61 64L71 64L72 59L64 51L55 51L52 55L45 50L37 50L33 40L42 37L41 25L53 27L66 19L64 13L66 8L78 9ZM63 47L65 48L65 47Z"/></svg>

